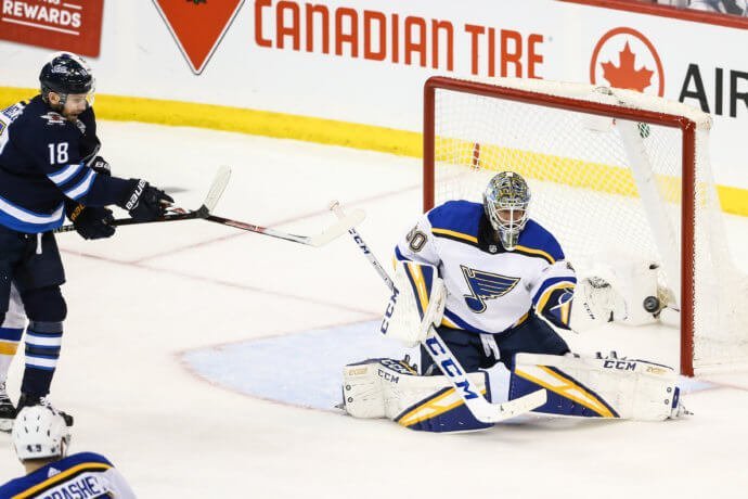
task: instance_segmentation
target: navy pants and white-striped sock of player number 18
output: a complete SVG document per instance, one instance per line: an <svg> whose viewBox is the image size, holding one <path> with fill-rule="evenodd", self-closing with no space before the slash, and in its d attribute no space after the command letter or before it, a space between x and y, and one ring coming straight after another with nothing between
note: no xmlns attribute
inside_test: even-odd
<svg viewBox="0 0 748 499"><path fill-rule="evenodd" d="M65 272L54 234L27 234L0 226L0 318L4 320L14 284L28 316L26 369L21 391L49 393L60 357L67 315L60 286Z"/></svg>

